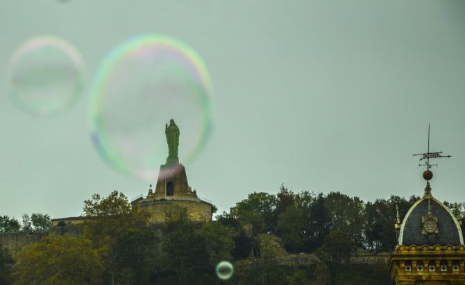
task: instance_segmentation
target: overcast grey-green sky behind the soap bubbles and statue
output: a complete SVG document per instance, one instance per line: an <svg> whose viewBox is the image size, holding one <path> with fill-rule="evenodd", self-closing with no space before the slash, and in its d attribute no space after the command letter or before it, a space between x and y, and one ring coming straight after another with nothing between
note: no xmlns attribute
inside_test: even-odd
<svg viewBox="0 0 465 285"><path fill-rule="evenodd" d="M210 70L214 129L185 166L220 211L282 183L363 200L420 195L412 153L425 151L428 122L431 150L453 155L438 159L432 193L465 201L464 15L465 1L437 0L3 0L0 74L19 44L57 35L82 53L86 85L65 114L35 117L1 81L0 215L77 216L92 193L146 194L148 182L99 157L88 122L99 63L146 33L186 42Z"/></svg>

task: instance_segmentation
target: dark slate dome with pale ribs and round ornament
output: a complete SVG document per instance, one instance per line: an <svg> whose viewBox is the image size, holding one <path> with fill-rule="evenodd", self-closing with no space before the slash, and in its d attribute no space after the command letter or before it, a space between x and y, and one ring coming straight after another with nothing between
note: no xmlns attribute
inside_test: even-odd
<svg viewBox="0 0 465 285"><path fill-rule="evenodd" d="M398 244L459 245L464 238L454 214L428 191L407 211Z"/></svg>

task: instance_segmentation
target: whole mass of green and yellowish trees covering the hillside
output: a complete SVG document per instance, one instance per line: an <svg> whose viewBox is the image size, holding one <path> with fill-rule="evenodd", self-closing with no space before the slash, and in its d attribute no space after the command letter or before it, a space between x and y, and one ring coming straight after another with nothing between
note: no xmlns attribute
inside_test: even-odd
<svg viewBox="0 0 465 285"><path fill-rule="evenodd" d="M364 202L340 192L294 192L281 185L276 195L249 194L211 223L193 223L187 209L171 207L162 225L149 225L149 214L132 209L123 193L94 194L84 201L87 219L80 234L65 234L68 225L62 224L61 235L25 246L12 272L16 284L219 284L214 267L228 260L244 265L235 268L230 284L389 284L384 265L350 264L350 254L357 248L393 250L396 206L403 218L418 199ZM465 218L464 203L445 203L459 220ZM23 216L23 230L49 226L48 215ZM0 231L18 228L14 218L0 216ZM321 262L298 265L303 252ZM280 264L282 257L295 259L295 265ZM10 278L8 258L0 246L5 278Z"/></svg>

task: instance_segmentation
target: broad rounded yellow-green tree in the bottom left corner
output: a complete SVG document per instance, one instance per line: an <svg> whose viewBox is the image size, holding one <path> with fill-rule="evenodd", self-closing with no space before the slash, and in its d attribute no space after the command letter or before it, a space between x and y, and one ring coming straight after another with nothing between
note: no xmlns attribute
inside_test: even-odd
<svg viewBox="0 0 465 285"><path fill-rule="evenodd" d="M99 251L83 236L44 236L16 255L15 284L99 284Z"/></svg>

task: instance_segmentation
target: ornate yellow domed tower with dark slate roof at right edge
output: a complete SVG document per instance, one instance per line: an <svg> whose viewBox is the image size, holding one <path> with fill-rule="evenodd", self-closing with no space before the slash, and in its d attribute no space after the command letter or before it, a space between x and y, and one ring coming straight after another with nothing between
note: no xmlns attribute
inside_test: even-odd
<svg viewBox="0 0 465 285"><path fill-rule="evenodd" d="M407 211L402 224L398 215L398 245L391 254L389 272L396 285L465 284L465 245L459 221L432 196L429 166L423 178L427 180L423 197Z"/></svg>

